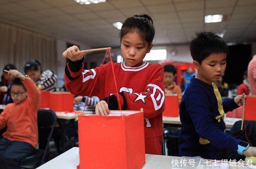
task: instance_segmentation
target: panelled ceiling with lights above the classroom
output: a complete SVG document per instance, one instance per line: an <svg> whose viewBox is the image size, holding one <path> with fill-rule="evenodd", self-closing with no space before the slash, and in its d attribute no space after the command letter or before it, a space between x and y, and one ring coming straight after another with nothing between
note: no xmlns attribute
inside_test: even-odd
<svg viewBox="0 0 256 169"><path fill-rule="evenodd" d="M80 5L73 0L0 0L0 20L92 47L119 46L123 22L147 13L154 44L188 43L196 31L225 30L226 42L256 41L256 0L107 0ZM204 23L204 15L231 14L230 21Z"/></svg>

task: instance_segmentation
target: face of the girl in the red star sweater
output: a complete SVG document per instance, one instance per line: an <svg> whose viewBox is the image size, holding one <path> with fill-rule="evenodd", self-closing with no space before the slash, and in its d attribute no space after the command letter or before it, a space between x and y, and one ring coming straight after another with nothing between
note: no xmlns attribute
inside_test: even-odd
<svg viewBox="0 0 256 169"><path fill-rule="evenodd" d="M136 31L127 33L121 39L122 57L126 65L130 67L142 65L143 59L152 47L153 44L148 45L148 42L142 39Z"/></svg>

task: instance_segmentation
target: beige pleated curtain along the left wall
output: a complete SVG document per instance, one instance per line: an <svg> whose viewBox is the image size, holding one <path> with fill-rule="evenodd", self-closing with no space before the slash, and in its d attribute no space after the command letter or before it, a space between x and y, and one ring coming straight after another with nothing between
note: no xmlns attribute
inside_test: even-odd
<svg viewBox="0 0 256 169"><path fill-rule="evenodd" d="M0 23L0 75L8 63L15 64L23 73L25 63L31 60L38 60L42 70L57 73L56 39Z"/></svg>

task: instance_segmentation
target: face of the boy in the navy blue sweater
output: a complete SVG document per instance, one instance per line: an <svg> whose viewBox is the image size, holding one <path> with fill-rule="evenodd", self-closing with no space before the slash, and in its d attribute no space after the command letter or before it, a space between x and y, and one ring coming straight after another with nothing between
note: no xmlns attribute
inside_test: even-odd
<svg viewBox="0 0 256 169"><path fill-rule="evenodd" d="M226 69L226 58L226 53L217 53L209 55L201 64L197 61L193 61L196 69L198 69L196 78L209 85L219 80Z"/></svg>

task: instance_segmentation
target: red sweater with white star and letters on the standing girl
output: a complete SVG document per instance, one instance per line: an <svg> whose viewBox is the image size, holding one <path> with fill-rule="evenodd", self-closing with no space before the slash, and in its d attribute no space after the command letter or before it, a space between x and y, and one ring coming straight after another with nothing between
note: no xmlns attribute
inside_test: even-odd
<svg viewBox="0 0 256 169"><path fill-rule="evenodd" d="M117 96L111 62L95 69L83 70L82 62L69 62L65 69L65 86L72 94L88 96L99 76L92 96L100 99ZM165 109L163 67L145 62L139 67L113 63L122 109L144 110L145 138L163 135L162 112ZM99 73L99 70L101 72Z"/></svg>

